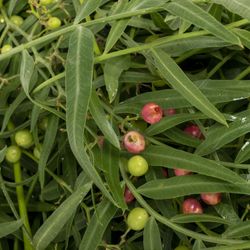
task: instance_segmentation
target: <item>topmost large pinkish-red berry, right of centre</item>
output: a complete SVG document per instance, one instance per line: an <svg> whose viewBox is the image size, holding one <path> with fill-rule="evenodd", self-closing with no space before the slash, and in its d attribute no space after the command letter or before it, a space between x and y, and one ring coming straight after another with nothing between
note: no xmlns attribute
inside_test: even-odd
<svg viewBox="0 0 250 250"><path fill-rule="evenodd" d="M161 120L163 111L156 103L149 102L143 106L141 110L141 116L147 123L154 124Z"/></svg>

